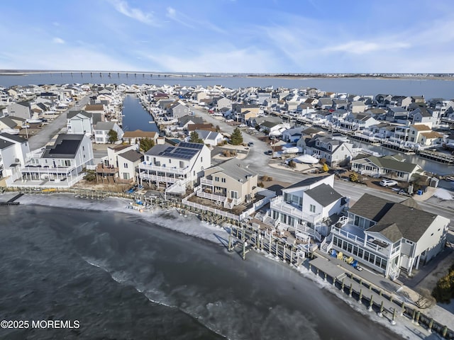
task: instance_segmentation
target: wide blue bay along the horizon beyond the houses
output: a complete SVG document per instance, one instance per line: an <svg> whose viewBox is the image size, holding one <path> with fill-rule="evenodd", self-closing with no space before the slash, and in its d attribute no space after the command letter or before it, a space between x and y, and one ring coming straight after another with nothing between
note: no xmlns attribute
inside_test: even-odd
<svg viewBox="0 0 454 340"><path fill-rule="evenodd" d="M454 81L419 79L358 79L358 78L251 78L251 77L157 77L137 73L94 72L80 74L28 74L27 76L0 76L0 86L28 84L155 84L182 86L223 85L231 89L248 86L274 86L286 88L315 87L322 91L358 95L393 94L399 96L424 96L425 98L454 98Z"/></svg>

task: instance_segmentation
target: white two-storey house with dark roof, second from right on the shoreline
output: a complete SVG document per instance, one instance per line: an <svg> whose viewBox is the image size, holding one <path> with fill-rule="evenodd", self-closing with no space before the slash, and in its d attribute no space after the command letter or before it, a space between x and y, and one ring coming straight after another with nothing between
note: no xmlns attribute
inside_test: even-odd
<svg viewBox="0 0 454 340"><path fill-rule="evenodd" d="M277 229L294 230L321 241L330 225L337 222L348 200L333 188L334 175L304 179L282 189L282 195L270 200L265 215Z"/></svg>

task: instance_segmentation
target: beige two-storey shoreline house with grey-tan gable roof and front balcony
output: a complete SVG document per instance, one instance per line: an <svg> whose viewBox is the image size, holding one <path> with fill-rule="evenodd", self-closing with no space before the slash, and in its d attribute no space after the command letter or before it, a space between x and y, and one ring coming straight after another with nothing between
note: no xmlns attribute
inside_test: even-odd
<svg viewBox="0 0 454 340"><path fill-rule="evenodd" d="M231 209L255 198L258 174L254 174L240 159L228 159L204 170L196 196L214 200Z"/></svg>

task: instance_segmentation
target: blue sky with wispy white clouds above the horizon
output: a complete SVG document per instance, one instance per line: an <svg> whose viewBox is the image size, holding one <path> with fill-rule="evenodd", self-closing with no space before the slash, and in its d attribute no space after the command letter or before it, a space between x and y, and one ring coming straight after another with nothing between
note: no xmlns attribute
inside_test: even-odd
<svg viewBox="0 0 454 340"><path fill-rule="evenodd" d="M0 69L454 72L454 1L1 2Z"/></svg>

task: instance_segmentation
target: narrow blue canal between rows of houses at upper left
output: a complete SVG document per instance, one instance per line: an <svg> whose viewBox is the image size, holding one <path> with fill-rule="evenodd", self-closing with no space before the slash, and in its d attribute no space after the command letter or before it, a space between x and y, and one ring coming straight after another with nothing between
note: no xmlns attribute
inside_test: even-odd
<svg viewBox="0 0 454 340"><path fill-rule="evenodd" d="M138 96L128 94L123 100L123 131L159 132L155 123L149 123L153 117L140 103Z"/></svg>

